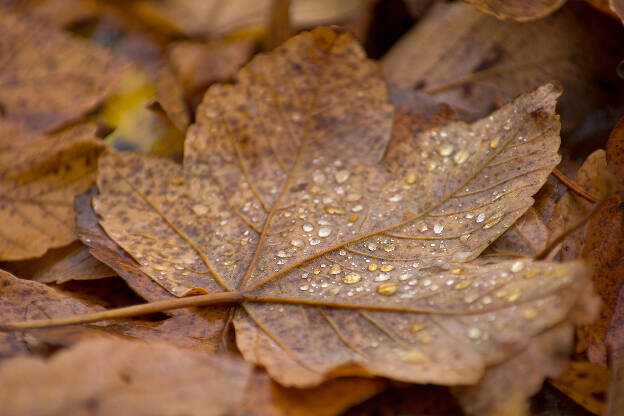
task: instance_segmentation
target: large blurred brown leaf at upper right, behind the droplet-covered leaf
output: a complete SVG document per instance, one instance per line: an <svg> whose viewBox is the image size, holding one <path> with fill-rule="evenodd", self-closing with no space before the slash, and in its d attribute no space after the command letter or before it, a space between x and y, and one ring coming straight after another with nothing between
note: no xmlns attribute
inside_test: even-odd
<svg viewBox="0 0 624 416"><path fill-rule="evenodd" d="M439 2L393 46L382 67L388 79L422 89L470 118L555 79L565 91L559 107L564 134L574 132L576 142L596 130L608 133L615 120L603 125L591 118L622 105L624 81L613 68L624 56L616 41L624 32L613 19L578 6L520 24L460 2Z"/></svg>

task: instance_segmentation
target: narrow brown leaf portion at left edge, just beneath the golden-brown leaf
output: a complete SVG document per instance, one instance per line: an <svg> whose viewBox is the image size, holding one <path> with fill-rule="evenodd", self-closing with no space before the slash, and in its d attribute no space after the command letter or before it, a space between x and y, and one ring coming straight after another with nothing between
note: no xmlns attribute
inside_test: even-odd
<svg viewBox="0 0 624 416"><path fill-rule="evenodd" d="M32 260L5 263L2 268L22 279L41 283L65 283L69 280L92 280L116 276L104 263L89 254L80 242L51 249Z"/></svg>

